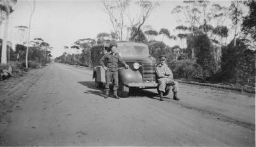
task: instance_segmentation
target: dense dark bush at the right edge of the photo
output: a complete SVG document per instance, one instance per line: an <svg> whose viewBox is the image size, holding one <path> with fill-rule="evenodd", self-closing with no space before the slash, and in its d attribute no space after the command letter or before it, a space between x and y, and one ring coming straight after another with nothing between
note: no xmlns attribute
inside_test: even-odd
<svg viewBox="0 0 256 147"><path fill-rule="evenodd" d="M255 51L246 49L243 41L237 39L223 49L221 57L222 79L232 83L255 84Z"/></svg>

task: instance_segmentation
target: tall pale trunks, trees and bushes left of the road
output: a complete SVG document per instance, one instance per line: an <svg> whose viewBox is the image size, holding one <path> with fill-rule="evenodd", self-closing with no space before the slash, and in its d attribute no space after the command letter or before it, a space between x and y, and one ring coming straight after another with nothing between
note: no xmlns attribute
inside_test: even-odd
<svg viewBox="0 0 256 147"><path fill-rule="evenodd" d="M12 74L22 76L24 71L45 66L45 64L51 62L50 57L52 57L52 48L44 39L29 39L31 18L35 11L35 1L33 1L33 7L31 7L29 27L22 25L15 27L19 34L17 38L19 38L20 42L13 47L12 42L7 41L9 35L7 31L9 15L14 11L13 7L16 3L17 0L3 0L0 2L0 25L4 22L4 36L3 39L0 38L1 80L4 80L6 77L10 78Z"/></svg>

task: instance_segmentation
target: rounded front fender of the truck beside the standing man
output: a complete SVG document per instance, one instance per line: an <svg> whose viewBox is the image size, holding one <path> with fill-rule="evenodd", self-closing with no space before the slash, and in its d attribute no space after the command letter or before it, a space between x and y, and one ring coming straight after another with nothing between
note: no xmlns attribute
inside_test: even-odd
<svg viewBox="0 0 256 147"><path fill-rule="evenodd" d="M122 83L124 83L125 85L128 85L129 83L143 83L140 71L134 71L131 68L119 68L118 79L122 81Z"/></svg>

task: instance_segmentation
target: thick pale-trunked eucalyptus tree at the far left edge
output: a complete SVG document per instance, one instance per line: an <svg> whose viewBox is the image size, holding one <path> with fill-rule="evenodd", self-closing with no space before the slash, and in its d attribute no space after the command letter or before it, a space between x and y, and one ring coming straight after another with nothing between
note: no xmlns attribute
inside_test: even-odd
<svg viewBox="0 0 256 147"><path fill-rule="evenodd" d="M0 1L0 26L5 19L4 25L4 36L1 54L1 63L7 63L6 50L7 50L7 38L8 38L8 27L9 27L9 15L13 11L13 6L17 3L17 0L2 0Z"/></svg>

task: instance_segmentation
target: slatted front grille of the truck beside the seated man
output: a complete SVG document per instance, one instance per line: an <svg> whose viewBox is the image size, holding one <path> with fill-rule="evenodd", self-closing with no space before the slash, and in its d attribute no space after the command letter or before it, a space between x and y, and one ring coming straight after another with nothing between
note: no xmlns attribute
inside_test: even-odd
<svg viewBox="0 0 256 147"><path fill-rule="evenodd" d="M143 83L156 83L156 64L143 64Z"/></svg>

